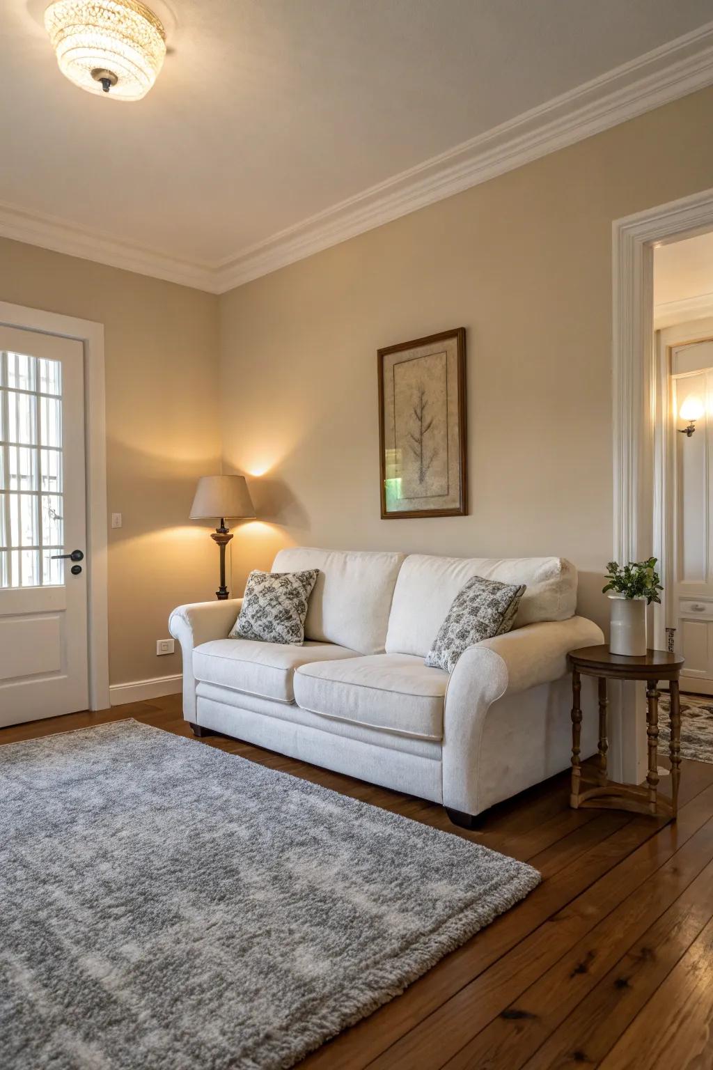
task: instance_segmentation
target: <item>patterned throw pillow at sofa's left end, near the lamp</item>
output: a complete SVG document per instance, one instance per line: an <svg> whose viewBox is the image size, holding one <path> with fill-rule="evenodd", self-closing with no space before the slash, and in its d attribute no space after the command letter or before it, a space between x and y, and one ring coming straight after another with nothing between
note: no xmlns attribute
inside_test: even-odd
<svg viewBox="0 0 713 1070"><path fill-rule="evenodd" d="M250 572L230 639L301 646L307 602L319 575L317 568L305 572Z"/></svg>

